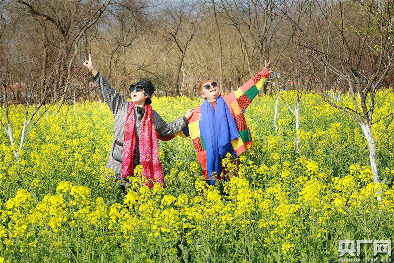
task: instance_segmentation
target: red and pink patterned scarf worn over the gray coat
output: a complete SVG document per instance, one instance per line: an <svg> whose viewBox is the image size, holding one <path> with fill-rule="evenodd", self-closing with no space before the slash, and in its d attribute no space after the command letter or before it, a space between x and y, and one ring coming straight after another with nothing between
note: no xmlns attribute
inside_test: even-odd
<svg viewBox="0 0 394 263"><path fill-rule="evenodd" d="M122 177L134 174L132 157L135 149L135 117L134 103L131 101L125 120L125 135L123 141ZM154 183L160 183L165 188L163 169L159 161L159 148L155 126L152 119L152 106L145 105L145 113L141 119L139 131L139 158L144 167L142 174L145 184L152 188Z"/></svg>

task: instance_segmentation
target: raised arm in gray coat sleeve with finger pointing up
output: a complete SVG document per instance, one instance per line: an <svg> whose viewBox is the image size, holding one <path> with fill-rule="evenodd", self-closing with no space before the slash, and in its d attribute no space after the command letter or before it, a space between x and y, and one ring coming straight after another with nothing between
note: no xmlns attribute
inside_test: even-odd
<svg viewBox="0 0 394 263"><path fill-rule="evenodd" d="M87 67L94 76L93 80L99 87L99 90L113 115L115 115L122 107L127 107L128 102L123 99L119 93L111 87L108 81L95 69L90 54L89 60L85 60L83 65Z"/></svg>

